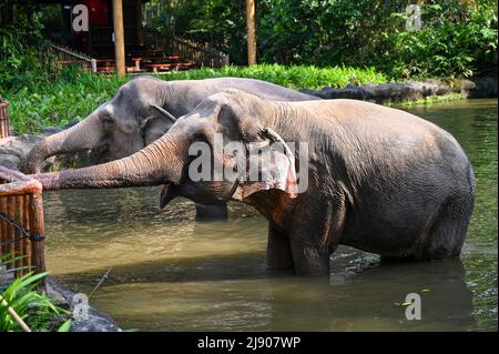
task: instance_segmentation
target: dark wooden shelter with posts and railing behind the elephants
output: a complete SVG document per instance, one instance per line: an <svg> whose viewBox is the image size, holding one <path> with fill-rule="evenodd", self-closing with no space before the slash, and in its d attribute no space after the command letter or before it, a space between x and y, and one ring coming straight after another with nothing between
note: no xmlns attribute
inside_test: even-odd
<svg viewBox="0 0 499 354"><path fill-rule="evenodd" d="M156 73L194 67L228 65L228 55L173 34L146 31L143 9L149 0L32 0L52 6L53 18L44 36L52 41L59 65L77 65L93 72ZM88 28L79 24L81 7L88 10ZM0 23L14 19L12 7L0 6ZM58 18L59 17L59 18ZM80 23L81 24L81 23ZM174 59L176 58L176 59Z"/></svg>

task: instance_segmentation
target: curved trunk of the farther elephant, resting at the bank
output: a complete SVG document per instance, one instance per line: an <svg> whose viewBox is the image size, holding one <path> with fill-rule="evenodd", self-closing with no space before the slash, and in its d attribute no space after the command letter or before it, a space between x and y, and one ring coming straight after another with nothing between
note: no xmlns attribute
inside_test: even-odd
<svg viewBox="0 0 499 354"><path fill-rule="evenodd" d="M40 173L43 162L50 156L99 148L103 133L99 117L91 114L77 125L43 139L27 155L23 171Z"/></svg>

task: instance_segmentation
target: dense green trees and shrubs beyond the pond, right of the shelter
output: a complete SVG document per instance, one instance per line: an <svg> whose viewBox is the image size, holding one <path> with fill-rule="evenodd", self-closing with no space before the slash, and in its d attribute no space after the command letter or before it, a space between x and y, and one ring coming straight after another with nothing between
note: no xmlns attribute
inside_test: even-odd
<svg viewBox="0 0 499 354"><path fill-rule="evenodd" d="M244 0L171 1L161 21L246 63ZM152 6L161 9L161 1ZM166 2L165 2L166 3ZM497 3L420 0L422 29L406 29L400 0L256 1L259 61L376 67L395 79L468 77L497 63ZM151 26L160 26L151 22Z"/></svg>

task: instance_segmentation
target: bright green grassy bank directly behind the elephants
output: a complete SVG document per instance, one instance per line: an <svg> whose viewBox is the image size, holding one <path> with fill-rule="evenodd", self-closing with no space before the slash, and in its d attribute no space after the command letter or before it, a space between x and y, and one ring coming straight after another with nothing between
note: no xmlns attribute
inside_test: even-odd
<svg viewBox="0 0 499 354"><path fill-rule="evenodd" d="M261 79L292 89L344 88L347 84L384 83L389 79L374 68L262 64L249 68L197 69L161 75L163 80L198 80L220 77ZM30 87L0 92L10 103L10 121L17 133L37 133L47 127L80 121L111 99L129 79L67 70L57 78L41 78ZM1 84L1 83L0 83Z"/></svg>

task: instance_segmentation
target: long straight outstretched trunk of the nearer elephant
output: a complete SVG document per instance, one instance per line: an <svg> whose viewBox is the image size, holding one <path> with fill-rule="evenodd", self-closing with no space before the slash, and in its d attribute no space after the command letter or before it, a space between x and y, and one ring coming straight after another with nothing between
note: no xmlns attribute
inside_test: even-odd
<svg viewBox="0 0 499 354"><path fill-rule="evenodd" d="M112 162L84 169L31 175L44 190L95 189L160 185L179 182L183 159L176 145L164 135L141 151Z"/></svg>

